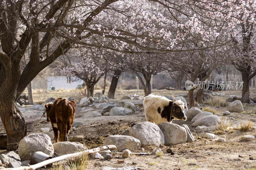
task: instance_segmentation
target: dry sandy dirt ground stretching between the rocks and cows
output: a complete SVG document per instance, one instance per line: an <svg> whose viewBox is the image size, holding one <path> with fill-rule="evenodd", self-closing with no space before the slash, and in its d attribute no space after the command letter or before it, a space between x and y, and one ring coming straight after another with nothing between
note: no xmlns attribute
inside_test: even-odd
<svg viewBox="0 0 256 170"><path fill-rule="evenodd" d="M96 91L97 92L97 91ZM153 94L156 95L166 95L166 96L178 96L180 94L187 94L187 91L178 90L152 90ZM241 91L221 91L217 93L223 93L225 95L215 96L218 98L228 98L229 95L241 96ZM75 94L72 91L59 91L53 93L35 92L34 100L35 102L41 102L49 97L70 97ZM115 98L110 101L118 102L121 101L121 97L124 95L139 94L143 96L142 90L122 90L116 91ZM250 93L250 97L255 97L255 92ZM123 100L124 101L124 100ZM128 100L125 100L128 101ZM84 125L77 127L76 131L72 131L69 134L69 140L74 142L72 136L83 135L85 138L80 143L83 143L88 149L92 149L103 145L103 141L109 135L117 135L124 130L130 129L132 124L137 124L146 121L145 116L143 116L144 109L142 105L142 100L134 101L136 106L140 109L136 113L132 113L127 116L102 116L102 117L92 117L83 119L83 112L81 108L77 106L76 108L76 118L75 121L83 122ZM199 109L206 107L207 105L200 104ZM234 117L235 120L231 120L231 124L236 126L240 123L251 120L253 126L256 126L256 116L255 116L255 104L246 104L244 107L244 112L242 113L231 113L232 116L222 116L223 112L226 111L226 107L216 108L216 115L220 118ZM96 110L96 109L94 109ZM42 112L34 110L24 110L23 115L26 122L38 121L42 116ZM31 116L32 115L32 116ZM210 131L195 130L192 127L192 123L189 121L174 120L172 123L175 124L187 124L190 131L192 132L194 142L187 142L185 144L177 144L171 146L162 145L162 156L157 157L156 154L135 156L132 155L129 158L122 158L121 155L113 154L113 159L110 160L99 160L89 158L89 164L87 169L102 169L103 166L110 167L125 167L125 166L136 166L138 169L256 169L256 138L243 138L244 135L256 135L256 130L243 132L239 130L234 130L231 133L224 132L223 134L215 134L220 138L225 138L226 142L218 142L216 139L206 139L204 134ZM90 126L92 125L92 126ZM51 124L46 122L46 118L42 118L40 123L36 126L33 133L39 133L41 127L51 127ZM4 132L2 123L0 124L0 132ZM54 143L54 141L52 141ZM156 147L147 146L144 147L146 152L152 152ZM174 155L167 153L168 148L172 149ZM4 152L2 148L0 152ZM142 149L134 152L142 152ZM118 164L117 160L124 159L123 164ZM251 160L253 159L253 160ZM189 165L189 163L195 163L195 165Z"/></svg>

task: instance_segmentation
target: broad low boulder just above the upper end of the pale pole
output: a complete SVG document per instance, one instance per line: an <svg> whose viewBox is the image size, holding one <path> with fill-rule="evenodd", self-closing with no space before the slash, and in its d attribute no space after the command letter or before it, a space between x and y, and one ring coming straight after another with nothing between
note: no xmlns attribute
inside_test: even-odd
<svg viewBox="0 0 256 170"><path fill-rule="evenodd" d="M116 145L118 152L124 149L135 151L140 149L140 140L132 136L110 135L104 140L103 145Z"/></svg>

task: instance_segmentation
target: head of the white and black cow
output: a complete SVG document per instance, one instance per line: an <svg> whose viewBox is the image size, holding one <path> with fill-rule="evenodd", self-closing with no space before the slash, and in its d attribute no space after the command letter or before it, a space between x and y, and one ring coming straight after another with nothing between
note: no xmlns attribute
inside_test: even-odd
<svg viewBox="0 0 256 170"><path fill-rule="evenodd" d="M181 100L175 101L172 105L172 117L178 120L186 120L187 117L184 113L184 110L186 108L187 107L184 105L184 102L182 102Z"/></svg>

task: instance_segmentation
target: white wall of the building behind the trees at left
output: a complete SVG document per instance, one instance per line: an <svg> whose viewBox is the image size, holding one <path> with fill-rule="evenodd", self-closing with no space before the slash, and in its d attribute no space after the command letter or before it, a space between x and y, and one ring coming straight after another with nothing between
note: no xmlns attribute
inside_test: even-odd
<svg viewBox="0 0 256 170"><path fill-rule="evenodd" d="M47 77L47 89L51 90L50 86L55 87L55 91L57 89L76 89L78 84L83 84L83 80L67 83L66 76L55 76L55 77Z"/></svg>

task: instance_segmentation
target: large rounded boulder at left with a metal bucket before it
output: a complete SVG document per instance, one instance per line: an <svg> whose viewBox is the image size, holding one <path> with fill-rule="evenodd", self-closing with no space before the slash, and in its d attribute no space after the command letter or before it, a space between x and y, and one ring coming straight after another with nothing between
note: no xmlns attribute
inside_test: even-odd
<svg viewBox="0 0 256 170"><path fill-rule="evenodd" d="M20 160L30 160L31 156L41 151L49 156L53 156L54 149L51 138L46 134L34 133L25 136L19 143L19 156Z"/></svg>

